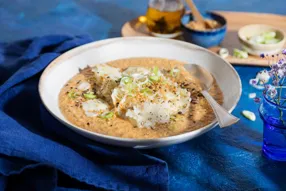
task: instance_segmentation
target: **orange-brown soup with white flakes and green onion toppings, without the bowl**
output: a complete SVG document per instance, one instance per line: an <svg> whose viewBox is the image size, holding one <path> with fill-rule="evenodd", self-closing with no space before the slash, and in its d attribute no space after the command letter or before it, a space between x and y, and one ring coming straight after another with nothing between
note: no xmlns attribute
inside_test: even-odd
<svg viewBox="0 0 286 191"><path fill-rule="evenodd" d="M59 94L59 107L78 127L109 136L150 139L204 127L215 116L182 62L128 58L80 69ZM220 103L217 84L210 90Z"/></svg>

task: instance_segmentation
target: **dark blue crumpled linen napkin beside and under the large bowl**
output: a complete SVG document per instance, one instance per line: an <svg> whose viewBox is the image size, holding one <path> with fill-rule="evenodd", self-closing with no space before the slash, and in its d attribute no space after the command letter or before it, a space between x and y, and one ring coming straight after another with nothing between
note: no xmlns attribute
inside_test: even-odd
<svg viewBox="0 0 286 191"><path fill-rule="evenodd" d="M168 189L166 162L88 140L43 107L43 69L90 41L57 35L0 44L0 190Z"/></svg>

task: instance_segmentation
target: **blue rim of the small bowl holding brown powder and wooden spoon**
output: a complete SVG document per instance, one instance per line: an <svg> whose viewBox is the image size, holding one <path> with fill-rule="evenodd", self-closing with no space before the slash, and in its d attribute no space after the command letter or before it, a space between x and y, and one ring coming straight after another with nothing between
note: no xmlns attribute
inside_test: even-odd
<svg viewBox="0 0 286 191"><path fill-rule="evenodd" d="M188 17L188 22L192 21L193 20L192 13L187 13L187 14L185 14L182 17L182 19L181 19L181 26L184 29L186 29L186 30L188 30L190 32L196 32L196 33L201 33L201 34L216 33L216 32L220 32L220 31L223 31L223 30L226 29L227 21L226 21L226 19L222 15L220 15L218 13L214 13L214 12L209 12L208 11L205 14L203 14L203 16L210 16L211 18L215 17L215 18L213 18L213 20L218 21L222 26L220 28L207 30L207 31L200 31L200 30L194 30L194 29L188 28L188 27L185 26L186 23L184 23L183 20L185 19L185 17ZM220 22L220 21L222 21L222 22Z"/></svg>

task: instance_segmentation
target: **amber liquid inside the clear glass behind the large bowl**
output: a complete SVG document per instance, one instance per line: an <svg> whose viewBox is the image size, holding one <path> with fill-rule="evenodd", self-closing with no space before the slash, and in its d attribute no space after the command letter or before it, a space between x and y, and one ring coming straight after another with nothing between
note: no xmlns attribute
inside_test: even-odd
<svg viewBox="0 0 286 191"><path fill-rule="evenodd" d="M149 6L146 13L147 27L156 34L179 33L183 14L183 7L176 11L160 11Z"/></svg>

